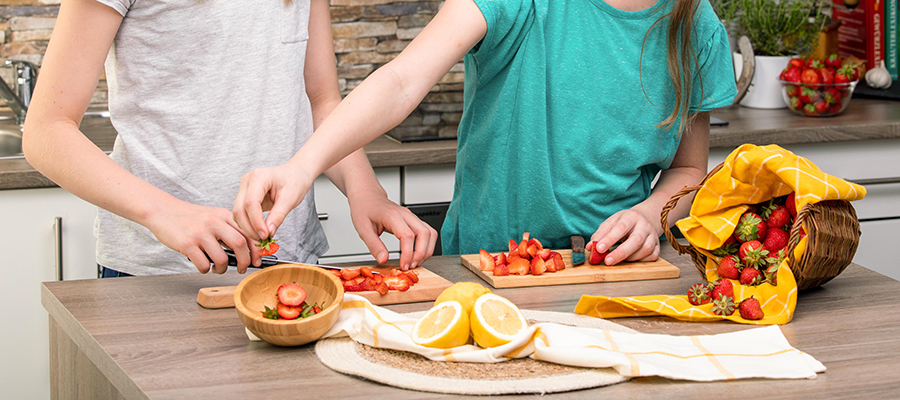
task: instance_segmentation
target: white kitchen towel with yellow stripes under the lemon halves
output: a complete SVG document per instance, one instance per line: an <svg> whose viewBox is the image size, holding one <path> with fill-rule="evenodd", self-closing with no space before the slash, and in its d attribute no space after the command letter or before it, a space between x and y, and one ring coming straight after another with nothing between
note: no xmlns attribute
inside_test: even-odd
<svg viewBox="0 0 900 400"><path fill-rule="evenodd" d="M614 368L628 377L717 381L813 379L825 366L793 348L777 325L732 333L672 336L537 323L503 346L432 349L412 342L415 320L344 294L338 321L323 338L349 336L369 346L409 351L434 361L502 362L532 357L563 365ZM251 339L258 340L249 331Z"/></svg>

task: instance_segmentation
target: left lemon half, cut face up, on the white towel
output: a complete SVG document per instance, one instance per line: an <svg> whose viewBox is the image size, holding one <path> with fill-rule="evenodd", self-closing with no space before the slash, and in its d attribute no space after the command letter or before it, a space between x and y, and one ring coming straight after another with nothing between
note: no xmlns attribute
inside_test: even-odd
<svg viewBox="0 0 900 400"><path fill-rule="evenodd" d="M469 341L469 316L458 301L436 304L416 321L413 343L425 347L449 349Z"/></svg>

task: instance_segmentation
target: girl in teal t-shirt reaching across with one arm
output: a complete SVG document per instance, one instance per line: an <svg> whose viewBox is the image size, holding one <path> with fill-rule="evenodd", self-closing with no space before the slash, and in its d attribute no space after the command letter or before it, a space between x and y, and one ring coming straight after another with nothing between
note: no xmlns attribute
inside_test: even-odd
<svg viewBox="0 0 900 400"><path fill-rule="evenodd" d="M238 223L277 226L262 219L266 196L286 213L319 171L403 121L462 57L444 252L506 250L527 231L553 248L574 234L600 251L620 243L607 264L656 259L663 205L706 173L708 111L736 94L706 0L448 0L291 161L244 180Z"/></svg>

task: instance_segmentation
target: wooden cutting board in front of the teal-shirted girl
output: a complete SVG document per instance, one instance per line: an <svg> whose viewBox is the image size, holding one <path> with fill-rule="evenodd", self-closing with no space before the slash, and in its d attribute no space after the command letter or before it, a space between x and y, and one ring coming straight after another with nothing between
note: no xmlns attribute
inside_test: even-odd
<svg viewBox="0 0 900 400"><path fill-rule="evenodd" d="M647 279L672 279L681 273L678 267L662 258L653 262L622 262L608 267L584 263L572 266L572 250L556 250L563 256L566 269L557 272L545 272L541 275L508 275L494 276L492 272L481 270L478 254L463 254L462 264L494 288L567 285L570 283L594 283L639 281ZM499 254L499 253L498 253Z"/></svg>

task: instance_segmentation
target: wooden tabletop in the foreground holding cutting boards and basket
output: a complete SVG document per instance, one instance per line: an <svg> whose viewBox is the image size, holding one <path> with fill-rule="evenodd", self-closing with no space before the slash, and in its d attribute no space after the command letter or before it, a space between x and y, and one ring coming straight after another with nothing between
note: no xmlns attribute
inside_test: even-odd
<svg viewBox="0 0 900 400"><path fill-rule="evenodd" d="M582 294L681 294L700 281L687 255L667 244L662 256L681 277L655 281L501 289L523 309L571 312ZM481 282L457 256L424 267L454 282ZM167 275L47 282L42 304L51 317L51 380L63 394L92 389L103 398L342 398L419 399L455 396L409 391L334 372L313 345L279 348L249 342L234 309L196 304L197 290L234 285L242 276ZM483 282L481 282L483 283ZM421 311L431 303L388 308ZM800 293L794 320L781 327L794 347L828 369L814 380L685 382L639 378L558 395L565 398L860 398L900 393L900 282L859 265L825 286ZM645 333L698 335L751 326L623 318ZM82 371L78 372L77 371ZM77 382L77 384L76 384ZM99 397L96 397L99 398ZM533 396L528 396L533 398Z"/></svg>

